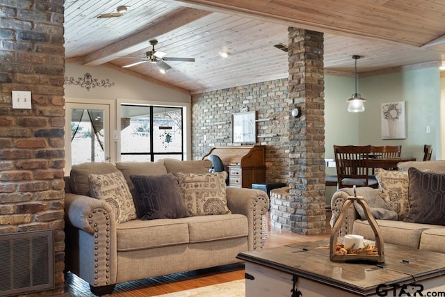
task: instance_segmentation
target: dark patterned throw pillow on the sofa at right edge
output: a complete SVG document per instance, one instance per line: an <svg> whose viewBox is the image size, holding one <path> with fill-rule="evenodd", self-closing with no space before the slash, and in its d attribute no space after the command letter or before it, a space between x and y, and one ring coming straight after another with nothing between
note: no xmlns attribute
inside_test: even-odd
<svg viewBox="0 0 445 297"><path fill-rule="evenodd" d="M445 225L445 174L408 170L410 211L405 222Z"/></svg>

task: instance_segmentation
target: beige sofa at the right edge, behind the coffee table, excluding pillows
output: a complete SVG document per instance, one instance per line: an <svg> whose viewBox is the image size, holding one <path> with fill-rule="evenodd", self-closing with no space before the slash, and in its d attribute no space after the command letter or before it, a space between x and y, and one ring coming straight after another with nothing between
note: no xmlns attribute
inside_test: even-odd
<svg viewBox="0 0 445 297"><path fill-rule="evenodd" d="M408 168L411 167L423 172L444 173L445 161L410 161L398 164L398 168L401 171L407 171ZM409 182L410 180L408 184ZM406 191L407 190L408 189L406 189ZM357 188L357 196L363 196L367 200L378 200L383 195L382 191L382 188L361 187ZM351 195L353 195L352 188L343 188L339 189L332 196L331 226L333 226L337 220L341 207L343 207L343 202ZM439 211L439 209L437 209L437 211ZM432 225L426 223L410 223L400 219L377 219L377 223L385 243L445 253L445 222L444 225ZM374 239L373 231L368 221L360 218L355 207L348 209L346 218L341 225L339 236L346 234L360 234L363 235L365 239Z"/></svg>

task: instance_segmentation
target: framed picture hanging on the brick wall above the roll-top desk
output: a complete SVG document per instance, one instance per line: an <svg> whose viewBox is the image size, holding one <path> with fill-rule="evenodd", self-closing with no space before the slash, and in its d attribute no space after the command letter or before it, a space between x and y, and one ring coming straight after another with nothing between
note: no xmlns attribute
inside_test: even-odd
<svg viewBox="0 0 445 297"><path fill-rule="evenodd" d="M257 142L257 125L254 111L232 113L232 138L233 143Z"/></svg>

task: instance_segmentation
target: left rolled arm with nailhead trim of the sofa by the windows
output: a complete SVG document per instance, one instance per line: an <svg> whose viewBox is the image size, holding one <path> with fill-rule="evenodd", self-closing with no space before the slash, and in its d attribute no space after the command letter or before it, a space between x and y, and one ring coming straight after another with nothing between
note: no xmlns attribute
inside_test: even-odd
<svg viewBox="0 0 445 297"><path fill-rule="evenodd" d="M92 287L117 280L116 223L111 206L103 200L65 194L67 269Z"/></svg>

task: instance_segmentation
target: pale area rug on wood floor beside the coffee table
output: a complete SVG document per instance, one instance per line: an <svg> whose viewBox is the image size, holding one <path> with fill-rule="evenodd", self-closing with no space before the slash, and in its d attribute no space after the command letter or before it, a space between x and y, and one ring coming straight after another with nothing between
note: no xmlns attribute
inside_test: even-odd
<svg viewBox="0 0 445 297"><path fill-rule="evenodd" d="M223 284L213 284L176 293L158 295L155 297L244 297L245 280L234 280Z"/></svg>

